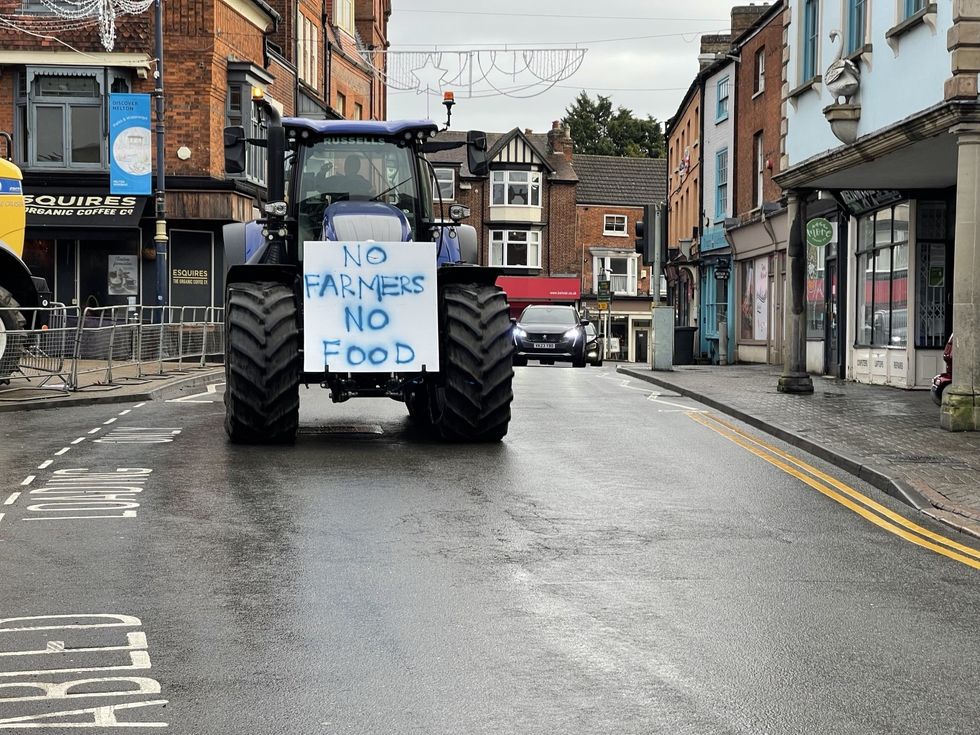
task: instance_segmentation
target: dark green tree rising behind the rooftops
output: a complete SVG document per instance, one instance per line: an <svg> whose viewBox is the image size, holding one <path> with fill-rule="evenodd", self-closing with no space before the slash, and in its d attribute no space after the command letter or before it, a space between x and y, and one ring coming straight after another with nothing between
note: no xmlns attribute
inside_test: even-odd
<svg viewBox="0 0 980 735"><path fill-rule="evenodd" d="M565 108L562 124L568 128L576 153L630 158L663 158L664 136L660 123L652 116L633 116L619 106L613 112L609 97L596 95L595 101L580 92Z"/></svg>

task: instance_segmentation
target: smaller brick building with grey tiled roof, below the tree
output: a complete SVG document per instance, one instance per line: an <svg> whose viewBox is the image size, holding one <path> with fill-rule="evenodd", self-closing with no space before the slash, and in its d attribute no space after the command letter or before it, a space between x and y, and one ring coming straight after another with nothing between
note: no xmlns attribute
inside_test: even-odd
<svg viewBox="0 0 980 735"><path fill-rule="evenodd" d="M651 269L640 262L635 225L643 205L666 201L664 159L576 155L575 241L581 248L582 304L598 317L596 289L600 274L610 281L608 329L618 356L647 360L650 306L659 289ZM605 315L599 319L606 326ZM613 357L612 354L609 355Z"/></svg>

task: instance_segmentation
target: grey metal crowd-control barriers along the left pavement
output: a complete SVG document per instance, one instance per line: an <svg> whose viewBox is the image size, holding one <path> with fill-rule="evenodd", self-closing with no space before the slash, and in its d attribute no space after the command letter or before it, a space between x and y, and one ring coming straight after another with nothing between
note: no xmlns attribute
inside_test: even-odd
<svg viewBox="0 0 980 735"><path fill-rule="evenodd" d="M223 354L221 308L0 308L0 400L23 388L67 392L145 382L202 368Z"/></svg>

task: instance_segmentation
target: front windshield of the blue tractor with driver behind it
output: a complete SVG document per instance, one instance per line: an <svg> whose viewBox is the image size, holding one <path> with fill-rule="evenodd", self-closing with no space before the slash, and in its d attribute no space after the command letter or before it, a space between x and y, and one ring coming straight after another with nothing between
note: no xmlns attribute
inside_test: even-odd
<svg viewBox="0 0 980 735"><path fill-rule="evenodd" d="M419 188L412 148L385 138L333 136L302 146L299 156L300 242L320 239L324 210L345 200L397 207L415 236Z"/></svg>

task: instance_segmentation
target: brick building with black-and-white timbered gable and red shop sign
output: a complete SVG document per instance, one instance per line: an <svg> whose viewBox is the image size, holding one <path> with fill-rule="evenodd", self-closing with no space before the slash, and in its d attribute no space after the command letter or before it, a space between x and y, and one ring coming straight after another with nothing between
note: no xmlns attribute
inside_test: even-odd
<svg viewBox="0 0 980 735"><path fill-rule="evenodd" d="M463 140L446 132L439 140ZM547 134L514 128L488 133L488 176L466 166L465 148L433 153L436 207L459 203L476 228L482 265L507 272L512 312L528 303L577 304L581 296L580 249L575 239L572 141L558 123Z"/></svg>

